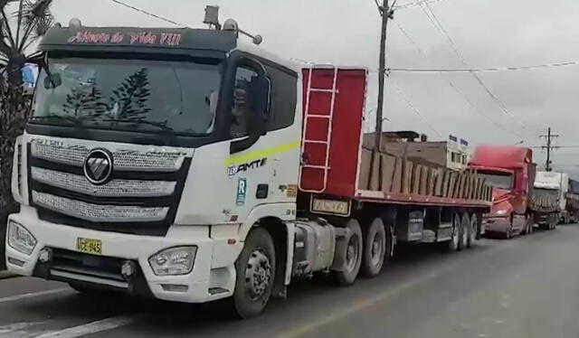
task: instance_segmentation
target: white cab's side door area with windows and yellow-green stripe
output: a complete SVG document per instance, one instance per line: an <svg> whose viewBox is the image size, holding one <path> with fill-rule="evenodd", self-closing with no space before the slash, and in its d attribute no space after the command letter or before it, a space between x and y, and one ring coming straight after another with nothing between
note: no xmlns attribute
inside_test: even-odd
<svg viewBox="0 0 579 338"><path fill-rule="evenodd" d="M233 213L256 205L295 202L300 128L296 123L297 74L270 63L242 61L235 70L231 154L227 175Z"/></svg>

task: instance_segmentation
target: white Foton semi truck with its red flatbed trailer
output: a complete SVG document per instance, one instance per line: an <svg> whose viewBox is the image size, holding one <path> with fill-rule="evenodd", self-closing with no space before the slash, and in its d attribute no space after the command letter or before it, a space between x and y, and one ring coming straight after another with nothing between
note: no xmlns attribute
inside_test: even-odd
<svg viewBox="0 0 579 338"><path fill-rule="evenodd" d="M396 242L479 237L491 193L476 174L362 147L366 70L302 69L239 33L47 33L15 147L10 271L227 298L248 317L297 277L377 275Z"/></svg>

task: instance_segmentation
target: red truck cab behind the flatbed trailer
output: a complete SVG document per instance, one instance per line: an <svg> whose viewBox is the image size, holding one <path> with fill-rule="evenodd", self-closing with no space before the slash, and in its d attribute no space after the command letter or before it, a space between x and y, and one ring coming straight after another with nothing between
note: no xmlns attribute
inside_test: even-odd
<svg viewBox="0 0 579 338"><path fill-rule="evenodd" d="M523 146L477 146L469 168L493 186L493 203L484 219L489 235L505 238L533 231L528 211L535 180L533 151Z"/></svg>

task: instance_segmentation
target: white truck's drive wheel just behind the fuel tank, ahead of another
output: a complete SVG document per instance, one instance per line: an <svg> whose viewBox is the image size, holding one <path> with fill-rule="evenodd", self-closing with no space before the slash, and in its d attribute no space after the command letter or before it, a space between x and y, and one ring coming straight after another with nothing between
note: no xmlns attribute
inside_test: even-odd
<svg viewBox="0 0 579 338"><path fill-rule="evenodd" d="M346 223L346 228L352 231L350 239L346 245L337 247L336 255L341 255L344 259L344 267L340 271L335 271L337 284L340 286L348 286L354 284L360 266L362 265L362 256L364 254L362 248L362 230L360 223L354 219L350 219Z"/></svg>

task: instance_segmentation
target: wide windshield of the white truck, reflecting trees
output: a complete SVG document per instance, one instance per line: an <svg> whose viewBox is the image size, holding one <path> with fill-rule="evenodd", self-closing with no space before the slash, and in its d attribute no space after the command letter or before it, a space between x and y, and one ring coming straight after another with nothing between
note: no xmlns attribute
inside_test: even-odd
<svg viewBox="0 0 579 338"><path fill-rule="evenodd" d="M215 63L50 59L31 123L207 135L221 85Z"/></svg>

